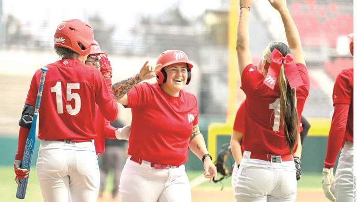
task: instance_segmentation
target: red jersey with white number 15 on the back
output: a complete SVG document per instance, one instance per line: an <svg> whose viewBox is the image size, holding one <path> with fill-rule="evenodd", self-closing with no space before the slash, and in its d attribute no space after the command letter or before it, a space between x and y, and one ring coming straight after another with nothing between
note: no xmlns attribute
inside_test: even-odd
<svg viewBox="0 0 357 202"><path fill-rule="evenodd" d="M39 109L39 139L73 142L94 139L96 104L106 119L115 120L117 104L98 69L74 59L62 59L46 67ZM37 70L32 78L27 105L35 106L41 72Z"/></svg>

